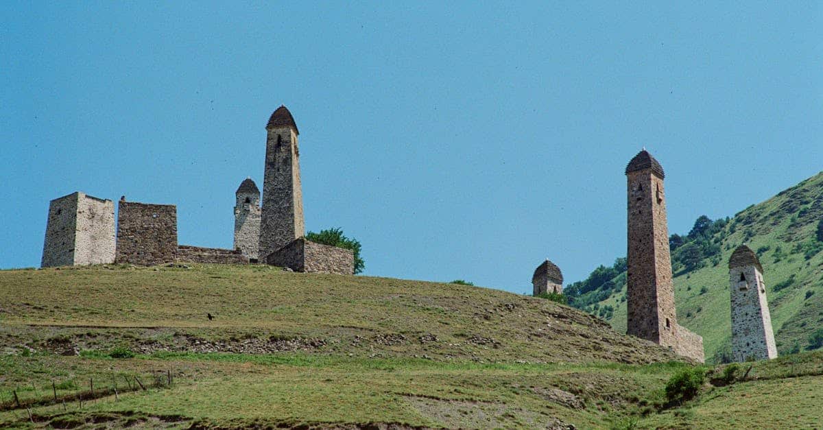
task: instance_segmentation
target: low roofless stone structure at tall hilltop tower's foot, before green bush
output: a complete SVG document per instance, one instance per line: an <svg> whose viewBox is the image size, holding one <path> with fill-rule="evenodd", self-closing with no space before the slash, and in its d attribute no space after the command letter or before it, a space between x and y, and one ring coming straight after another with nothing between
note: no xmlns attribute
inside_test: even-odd
<svg viewBox="0 0 823 430"><path fill-rule="evenodd" d="M355 272L353 251L306 241L302 237L269 254L266 263L287 267L295 272L338 274Z"/></svg>

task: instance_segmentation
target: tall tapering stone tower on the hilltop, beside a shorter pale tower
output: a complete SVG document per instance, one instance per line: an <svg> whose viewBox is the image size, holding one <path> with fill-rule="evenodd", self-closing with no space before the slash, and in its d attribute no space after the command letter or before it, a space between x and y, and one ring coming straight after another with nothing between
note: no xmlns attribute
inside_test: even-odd
<svg viewBox="0 0 823 430"><path fill-rule="evenodd" d="M286 106L272 113L266 125L266 167L259 259L305 236L303 192L297 124Z"/></svg>

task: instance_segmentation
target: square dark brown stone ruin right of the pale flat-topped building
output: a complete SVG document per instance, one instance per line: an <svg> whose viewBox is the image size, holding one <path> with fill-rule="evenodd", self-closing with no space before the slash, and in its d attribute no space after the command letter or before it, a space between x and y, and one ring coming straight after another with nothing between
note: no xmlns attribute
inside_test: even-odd
<svg viewBox="0 0 823 430"><path fill-rule="evenodd" d="M177 259L177 208L119 202L117 263L162 264Z"/></svg>

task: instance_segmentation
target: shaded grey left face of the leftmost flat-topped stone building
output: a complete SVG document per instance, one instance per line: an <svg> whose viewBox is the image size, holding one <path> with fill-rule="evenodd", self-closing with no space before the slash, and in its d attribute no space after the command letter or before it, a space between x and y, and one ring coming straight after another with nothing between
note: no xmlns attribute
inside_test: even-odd
<svg viewBox="0 0 823 430"><path fill-rule="evenodd" d="M49 203L43 258L40 259L42 267L74 264L78 194L68 194Z"/></svg>

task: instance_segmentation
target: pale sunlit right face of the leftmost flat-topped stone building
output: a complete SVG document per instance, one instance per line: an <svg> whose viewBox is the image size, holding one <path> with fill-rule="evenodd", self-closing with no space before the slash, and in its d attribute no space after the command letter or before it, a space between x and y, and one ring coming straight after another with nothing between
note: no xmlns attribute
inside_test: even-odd
<svg viewBox="0 0 823 430"><path fill-rule="evenodd" d="M74 264L114 263L114 202L80 194Z"/></svg>

